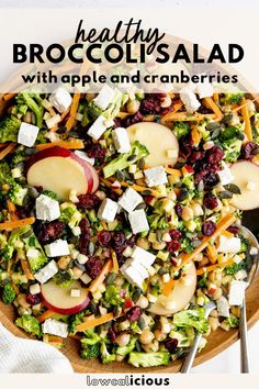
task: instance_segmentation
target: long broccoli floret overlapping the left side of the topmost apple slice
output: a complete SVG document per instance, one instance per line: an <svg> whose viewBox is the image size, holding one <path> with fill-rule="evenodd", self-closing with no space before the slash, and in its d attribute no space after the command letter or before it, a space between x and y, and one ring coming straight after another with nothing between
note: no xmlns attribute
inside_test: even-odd
<svg viewBox="0 0 259 389"><path fill-rule="evenodd" d="M113 176L117 170L126 169L133 163L135 164L137 160L145 158L148 154L149 152L147 147L136 141L134 142L131 152L121 154L104 166L103 175L105 178ZM131 158L133 155L135 156L134 159Z"/></svg>

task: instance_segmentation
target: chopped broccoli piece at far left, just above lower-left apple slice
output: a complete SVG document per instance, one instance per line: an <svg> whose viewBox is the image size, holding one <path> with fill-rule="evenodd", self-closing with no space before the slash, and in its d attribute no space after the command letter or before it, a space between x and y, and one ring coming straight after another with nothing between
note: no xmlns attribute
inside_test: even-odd
<svg viewBox="0 0 259 389"><path fill-rule="evenodd" d="M26 234L26 237L23 237L23 243L30 268L32 273L36 273L46 264L47 257L33 231L31 231L30 236Z"/></svg>

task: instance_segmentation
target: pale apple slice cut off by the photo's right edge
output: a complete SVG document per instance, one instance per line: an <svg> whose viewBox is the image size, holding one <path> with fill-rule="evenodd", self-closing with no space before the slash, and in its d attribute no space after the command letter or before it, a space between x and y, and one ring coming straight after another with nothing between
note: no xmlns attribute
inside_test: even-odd
<svg viewBox="0 0 259 389"><path fill-rule="evenodd" d="M241 211L259 208L259 166L249 160L239 160L232 165L234 177L230 184L236 185L241 194L234 194L232 205Z"/></svg>

